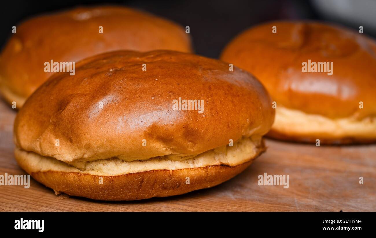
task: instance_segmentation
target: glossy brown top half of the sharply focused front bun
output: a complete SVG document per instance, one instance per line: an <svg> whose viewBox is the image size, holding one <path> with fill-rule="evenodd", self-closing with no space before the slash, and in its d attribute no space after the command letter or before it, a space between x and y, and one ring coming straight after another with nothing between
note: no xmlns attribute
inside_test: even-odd
<svg viewBox="0 0 376 238"><path fill-rule="evenodd" d="M203 102L203 111L174 100ZM270 96L244 70L190 53L117 51L84 59L73 76L54 74L17 114L14 140L64 162L187 156L259 138L273 121Z"/></svg>

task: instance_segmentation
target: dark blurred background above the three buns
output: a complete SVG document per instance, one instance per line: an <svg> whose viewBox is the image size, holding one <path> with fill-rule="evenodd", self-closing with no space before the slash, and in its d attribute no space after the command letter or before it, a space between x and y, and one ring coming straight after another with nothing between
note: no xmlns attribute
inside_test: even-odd
<svg viewBox="0 0 376 238"><path fill-rule="evenodd" d="M363 26L364 34L376 36L375 0L14 0L1 3L0 47L10 37L12 26L17 26L27 18L79 5L100 4L143 9L182 26L190 26L196 53L212 58L217 58L226 43L244 29L277 19L331 21L356 31L359 26Z"/></svg>

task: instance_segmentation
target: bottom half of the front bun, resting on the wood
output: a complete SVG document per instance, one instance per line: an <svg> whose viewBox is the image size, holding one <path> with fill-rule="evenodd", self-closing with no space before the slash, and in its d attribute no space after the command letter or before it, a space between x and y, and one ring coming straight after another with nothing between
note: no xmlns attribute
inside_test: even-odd
<svg viewBox="0 0 376 238"><path fill-rule="evenodd" d="M118 175L80 171L67 163L19 148L15 149L15 158L24 171L56 193L95 200L128 201L168 197L219 185L244 171L264 151L265 145L261 141L253 148L252 155L247 155L250 157L239 160L236 165L217 163L200 166L205 163L194 164L191 162L194 159L191 159L185 162L186 168L180 166L179 169L152 169ZM180 161L176 163L181 164Z"/></svg>

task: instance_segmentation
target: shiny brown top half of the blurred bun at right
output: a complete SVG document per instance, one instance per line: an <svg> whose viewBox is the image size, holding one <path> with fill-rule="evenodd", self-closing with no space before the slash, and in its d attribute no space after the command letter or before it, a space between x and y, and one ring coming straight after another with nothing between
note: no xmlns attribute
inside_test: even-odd
<svg viewBox="0 0 376 238"><path fill-rule="evenodd" d="M329 118L376 116L376 43L359 32L274 21L241 33L221 59L255 75L277 105ZM308 60L333 62L333 74L302 72Z"/></svg>

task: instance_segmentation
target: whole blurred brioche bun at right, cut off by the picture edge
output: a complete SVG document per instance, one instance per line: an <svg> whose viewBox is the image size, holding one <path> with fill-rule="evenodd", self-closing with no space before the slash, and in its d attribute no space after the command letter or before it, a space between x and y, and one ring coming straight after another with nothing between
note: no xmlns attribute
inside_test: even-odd
<svg viewBox="0 0 376 238"><path fill-rule="evenodd" d="M268 136L376 141L376 43L363 34L313 21L274 21L241 33L221 59L249 71L267 88L276 105ZM329 67L303 72L309 61L332 62L332 72Z"/></svg>

